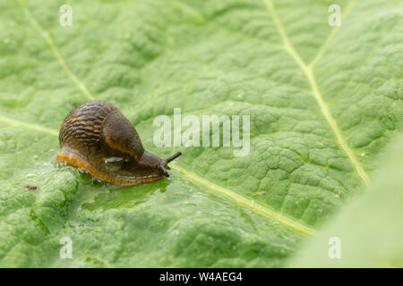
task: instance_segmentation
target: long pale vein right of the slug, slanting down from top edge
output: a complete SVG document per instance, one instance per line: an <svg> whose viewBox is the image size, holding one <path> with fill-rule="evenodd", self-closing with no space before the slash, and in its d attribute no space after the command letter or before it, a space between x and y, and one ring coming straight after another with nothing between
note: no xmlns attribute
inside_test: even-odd
<svg viewBox="0 0 403 286"><path fill-rule="evenodd" d="M281 21L279 21L279 16L277 15L275 7L271 3L271 0L264 0L264 3L266 4L267 10L270 13L271 17L273 18L274 24L279 31L279 36L280 36L281 40L283 41L284 49L286 50L287 54L290 55L296 61L297 65L300 67L301 71L304 72L304 75L312 88L313 97L315 98L316 102L318 103L319 107L321 108L321 112L322 112L325 120L329 123L330 129L333 131L334 135L336 136L339 146L346 153L350 163L353 165L359 178L364 182L364 185L365 186L371 185L371 181L370 181L368 175L366 174L366 172L364 171L363 166L360 164L358 159L356 159L354 151L351 149L351 147L348 146L346 139L344 139L343 133L341 132L341 130L339 130L336 120L333 118L333 116L330 113L329 106L326 104L326 102L324 101L324 99L322 97L321 91L319 90L317 81L313 74L313 70L312 70L313 66L312 65L307 66L304 63L304 61L301 59L301 57L296 53L296 50L294 49L294 47L291 45L291 43L288 40L287 33L286 33L285 29L283 28Z"/></svg>

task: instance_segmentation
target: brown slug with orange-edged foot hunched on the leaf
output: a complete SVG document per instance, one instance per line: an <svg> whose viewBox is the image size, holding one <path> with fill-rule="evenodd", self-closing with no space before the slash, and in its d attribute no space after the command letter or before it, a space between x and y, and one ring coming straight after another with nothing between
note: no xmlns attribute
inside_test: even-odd
<svg viewBox="0 0 403 286"><path fill-rule="evenodd" d="M134 185L169 177L169 162L142 147L133 125L115 105L100 100L84 102L64 118L59 131L56 161L73 164L91 176L116 185Z"/></svg>

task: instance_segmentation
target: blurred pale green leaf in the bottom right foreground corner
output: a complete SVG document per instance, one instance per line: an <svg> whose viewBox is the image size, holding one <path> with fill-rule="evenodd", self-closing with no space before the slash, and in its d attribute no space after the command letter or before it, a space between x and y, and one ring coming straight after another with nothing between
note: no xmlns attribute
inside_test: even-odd
<svg viewBox="0 0 403 286"><path fill-rule="evenodd" d="M291 266L403 267L403 138L374 177L373 187L345 207ZM328 256L331 237L339 238L339 259Z"/></svg>

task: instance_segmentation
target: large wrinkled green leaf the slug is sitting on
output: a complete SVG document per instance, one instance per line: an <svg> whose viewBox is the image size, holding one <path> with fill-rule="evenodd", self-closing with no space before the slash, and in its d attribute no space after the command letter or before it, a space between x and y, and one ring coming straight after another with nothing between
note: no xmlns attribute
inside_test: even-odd
<svg viewBox="0 0 403 286"><path fill-rule="evenodd" d="M402 3L0 2L0 265L281 266L370 185L402 130ZM75 105L121 109L171 179L116 188L57 167ZM155 147L159 114L251 118L249 156ZM38 189L24 189L26 184ZM61 259L59 241L73 240Z"/></svg>

